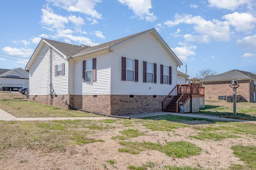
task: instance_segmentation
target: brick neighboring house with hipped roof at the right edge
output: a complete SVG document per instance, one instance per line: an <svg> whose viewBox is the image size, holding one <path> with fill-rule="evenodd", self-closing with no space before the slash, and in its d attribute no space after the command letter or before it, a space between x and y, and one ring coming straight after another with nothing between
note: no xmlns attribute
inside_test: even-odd
<svg viewBox="0 0 256 170"><path fill-rule="evenodd" d="M229 84L233 79L240 84L236 89L237 96L242 96L248 102L255 102L256 74L241 70L230 70L203 78L201 82L205 88L205 98L218 99L221 96L232 96L233 89Z"/></svg>

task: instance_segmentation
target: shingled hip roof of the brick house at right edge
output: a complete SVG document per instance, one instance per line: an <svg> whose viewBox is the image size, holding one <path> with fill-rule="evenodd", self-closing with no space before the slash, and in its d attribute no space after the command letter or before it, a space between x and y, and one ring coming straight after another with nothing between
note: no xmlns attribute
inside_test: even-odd
<svg viewBox="0 0 256 170"><path fill-rule="evenodd" d="M241 71L241 70L230 70L228 72L224 72L222 74L214 75L214 76L206 76L201 81L202 82L212 82L212 81L225 81L225 80L239 80L239 79L255 79L256 74L251 72Z"/></svg>

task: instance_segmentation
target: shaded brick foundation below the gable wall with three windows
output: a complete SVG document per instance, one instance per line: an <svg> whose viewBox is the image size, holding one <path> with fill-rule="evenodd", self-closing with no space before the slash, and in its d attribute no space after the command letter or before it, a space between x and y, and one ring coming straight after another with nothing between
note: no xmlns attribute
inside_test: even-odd
<svg viewBox="0 0 256 170"><path fill-rule="evenodd" d="M111 115L129 115L162 111L162 100L166 96L153 95L111 95Z"/></svg>

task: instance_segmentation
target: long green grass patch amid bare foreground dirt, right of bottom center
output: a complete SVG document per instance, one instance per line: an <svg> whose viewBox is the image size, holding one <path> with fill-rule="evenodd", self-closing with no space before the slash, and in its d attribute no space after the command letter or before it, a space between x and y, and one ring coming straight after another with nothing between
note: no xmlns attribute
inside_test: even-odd
<svg viewBox="0 0 256 170"><path fill-rule="evenodd" d="M158 150L165 153L171 157L177 158L187 158L192 155L198 155L201 152L201 148L196 145L186 142L170 142L166 145L160 145L159 143L152 142L131 142L131 141L121 141L120 145L125 146L125 148L118 149L119 152L127 152L130 154L138 154L143 150Z"/></svg>

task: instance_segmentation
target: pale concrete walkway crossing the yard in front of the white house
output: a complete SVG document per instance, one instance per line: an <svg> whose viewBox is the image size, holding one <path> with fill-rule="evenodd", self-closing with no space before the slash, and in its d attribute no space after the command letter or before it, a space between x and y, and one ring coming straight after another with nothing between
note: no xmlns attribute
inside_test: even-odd
<svg viewBox="0 0 256 170"><path fill-rule="evenodd" d="M132 119L142 118L142 117L152 117L152 116L160 116L160 115L178 115L178 116L187 116L187 117L200 117L204 119L215 119L222 121L238 121L238 122L247 122L247 123L255 123L256 121L250 120L242 120L242 119L230 119L224 117L215 117L210 115L200 115L200 114L180 114L180 113L169 113L169 112L154 112L154 113L142 113L136 115L126 115L126 117L130 117ZM0 109L0 120L3 121L38 121L38 120L102 120L102 119L117 119L115 117L14 117L13 115L7 113L6 111Z"/></svg>

